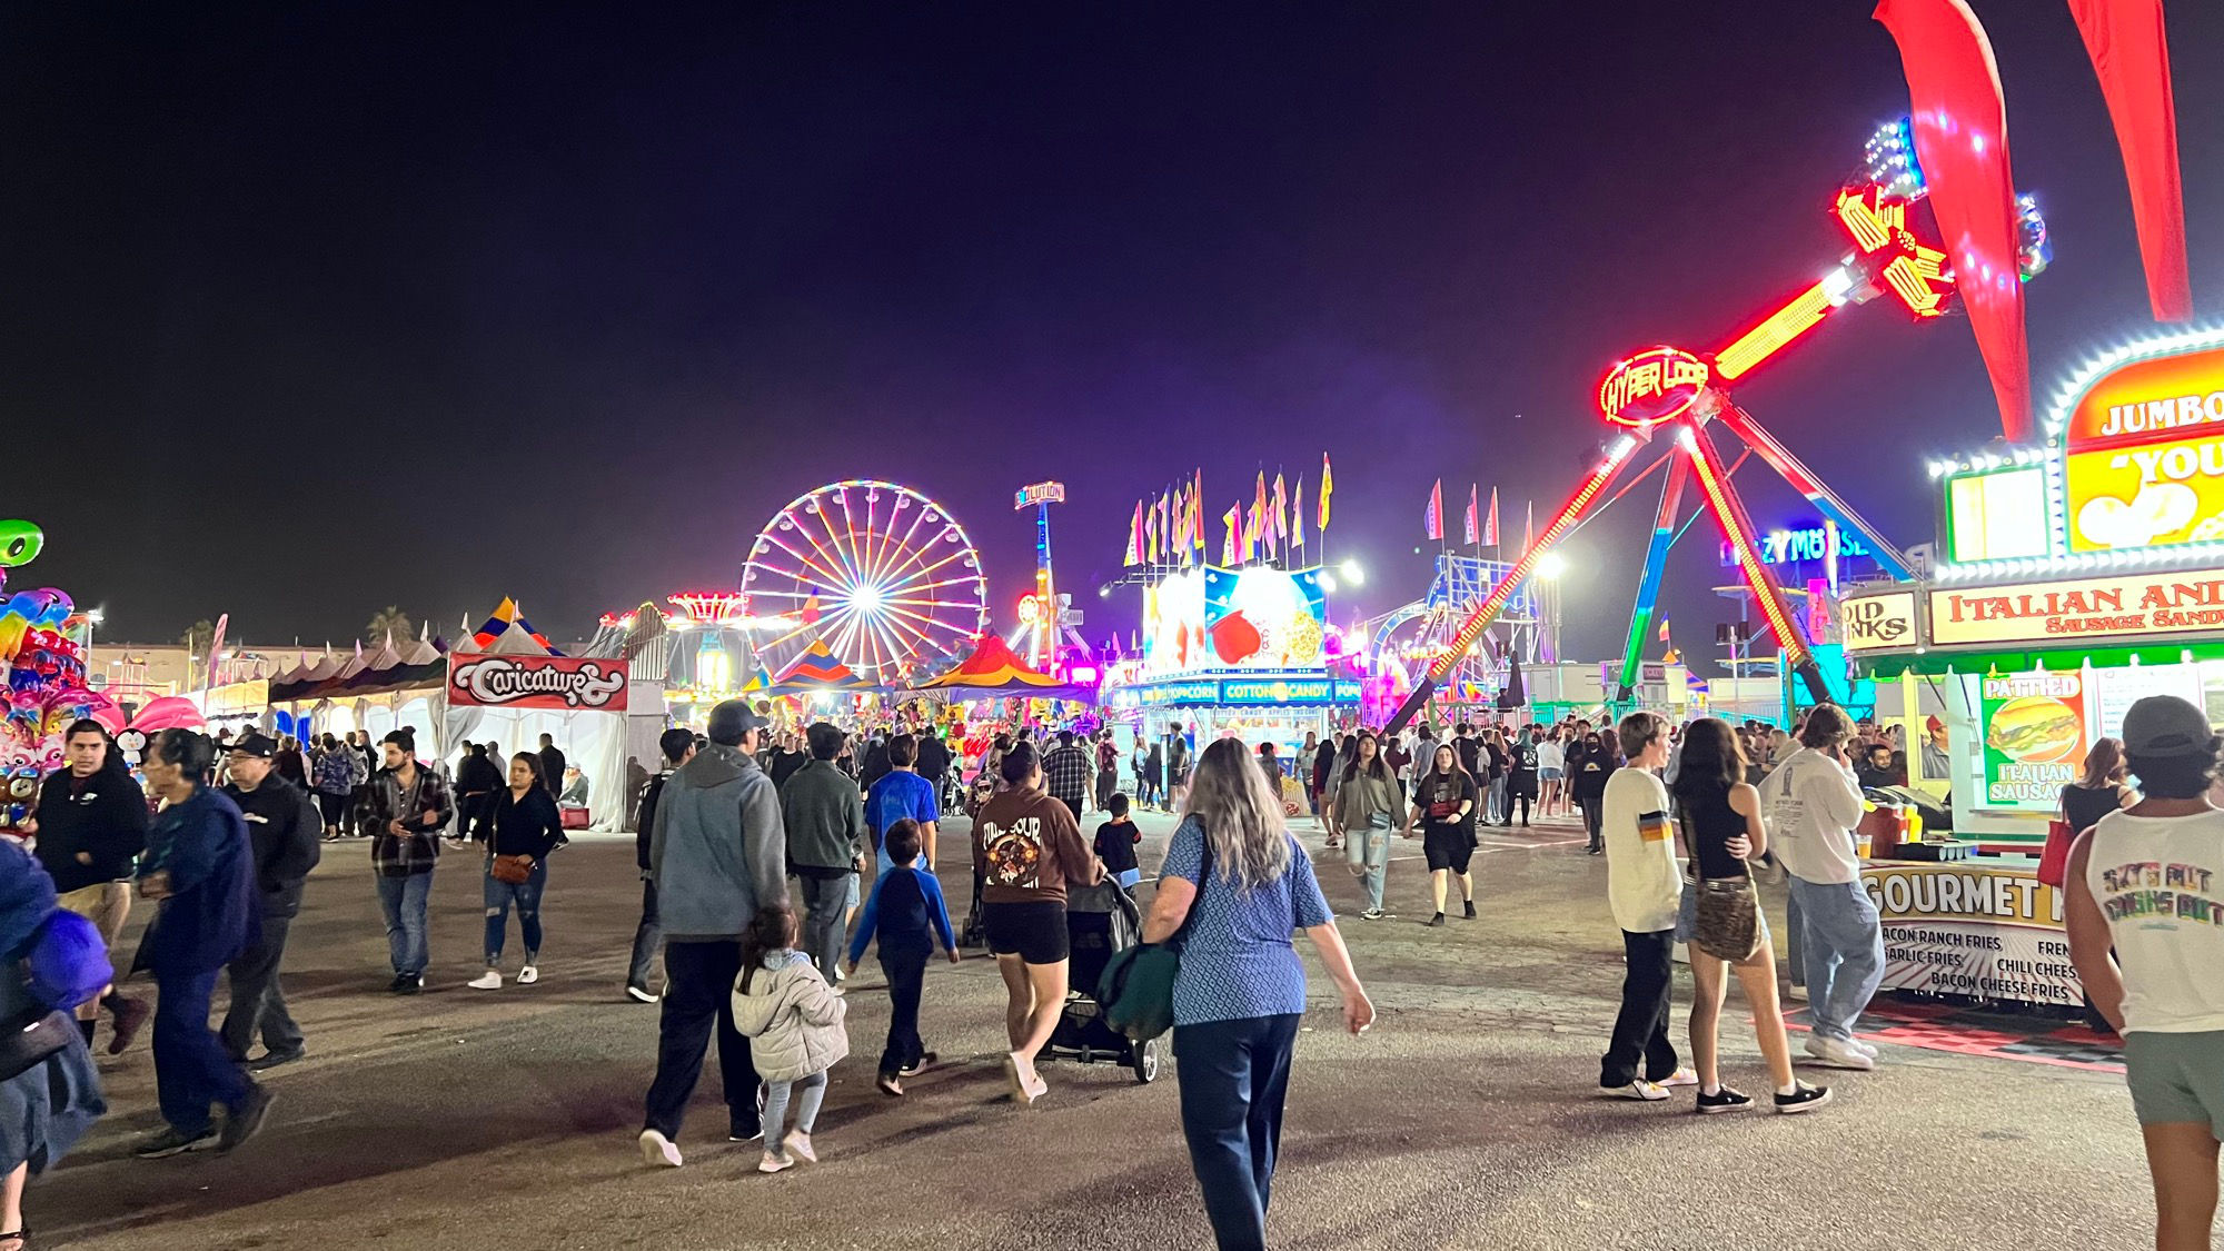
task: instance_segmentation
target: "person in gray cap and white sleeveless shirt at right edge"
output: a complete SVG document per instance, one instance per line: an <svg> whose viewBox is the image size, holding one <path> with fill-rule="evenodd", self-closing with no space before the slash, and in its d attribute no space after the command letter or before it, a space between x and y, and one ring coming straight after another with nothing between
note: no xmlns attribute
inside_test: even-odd
<svg viewBox="0 0 2224 1251"><path fill-rule="evenodd" d="M2084 991L2124 1035L2155 1178L2155 1247L2206 1251L2224 1137L2224 812L2220 739L2175 695L2124 712L2139 799L2071 844L2064 919ZM2113 948L2113 950L2111 950Z"/></svg>

